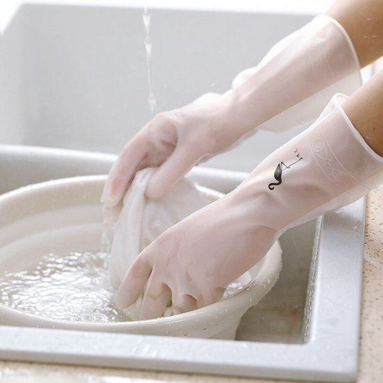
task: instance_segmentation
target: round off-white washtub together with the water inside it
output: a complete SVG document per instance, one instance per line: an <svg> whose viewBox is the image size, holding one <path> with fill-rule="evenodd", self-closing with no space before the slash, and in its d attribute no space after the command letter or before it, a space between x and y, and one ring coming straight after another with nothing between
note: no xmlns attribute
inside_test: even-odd
<svg viewBox="0 0 383 383"><path fill-rule="evenodd" d="M53 180L0 196L0 324L234 338L242 315L278 279L279 244L250 270L251 282L230 297L189 313L127 321L113 304L100 241L105 179ZM218 198L209 189L201 192Z"/></svg>

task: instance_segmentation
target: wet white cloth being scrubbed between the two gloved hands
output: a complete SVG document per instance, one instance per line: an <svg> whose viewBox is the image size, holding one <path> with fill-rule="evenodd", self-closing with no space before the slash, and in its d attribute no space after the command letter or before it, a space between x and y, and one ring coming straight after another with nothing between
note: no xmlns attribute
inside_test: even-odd
<svg viewBox="0 0 383 383"><path fill-rule="evenodd" d="M150 176L155 169L143 169L136 173L132 187L127 192L123 201L123 210L114 227L113 244L109 257L109 274L111 284L119 288L127 270L134 263L139 253L153 240L171 226L185 219L189 214L208 205L210 198L199 192L198 189L185 178L180 178L177 183L161 198L146 198L144 192ZM214 192L216 198L224 194ZM214 198L215 199L215 198ZM281 254L278 241L274 244L272 253ZM270 254L274 258L273 254ZM222 299L233 295L252 280L251 272L246 272L230 283ZM129 320L139 320L143 294L136 301L125 308L124 314ZM182 311L185 307L182 308ZM164 316L179 313L175 305L167 306Z"/></svg>

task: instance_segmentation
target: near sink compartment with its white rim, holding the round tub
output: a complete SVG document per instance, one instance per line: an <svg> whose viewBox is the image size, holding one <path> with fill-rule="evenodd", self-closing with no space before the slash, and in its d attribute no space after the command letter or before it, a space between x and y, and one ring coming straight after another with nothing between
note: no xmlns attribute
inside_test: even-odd
<svg viewBox="0 0 383 383"><path fill-rule="evenodd" d="M104 173L113 159L113 155L72 150L0 146L0 162L8 164L0 169L1 191L52 178ZM188 177L228 192L244 174L196 167ZM292 228L280 242L280 279L244 315L235 341L0 326L0 358L323 382L354 380L364 200Z"/></svg>

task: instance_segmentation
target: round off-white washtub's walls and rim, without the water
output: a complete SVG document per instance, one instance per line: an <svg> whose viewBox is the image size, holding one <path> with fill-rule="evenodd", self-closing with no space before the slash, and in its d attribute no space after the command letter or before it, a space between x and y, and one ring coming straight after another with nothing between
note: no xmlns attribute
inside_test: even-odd
<svg viewBox="0 0 383 383"><path fill-rule="evenodd" d="M98 175L65 178L0 196L0 277L6 271L28 269L49 253L100 250L103 229L100 195L105 180L105 176ZM253 280L246 287L210 306L168 318L72 322L42 318L0 304L0 324L233 339L242 315L272 288L280 269L281 251L276 244L251 269Z"/></svg>

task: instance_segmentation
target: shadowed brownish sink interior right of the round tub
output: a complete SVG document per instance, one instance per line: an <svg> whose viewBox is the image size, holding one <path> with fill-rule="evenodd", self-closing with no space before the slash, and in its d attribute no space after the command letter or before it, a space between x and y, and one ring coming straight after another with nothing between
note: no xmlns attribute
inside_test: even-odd
<svg viewBox="0 0 383 383"><path fill-rule="evenodd" d="M272 290L243 316L237 341L303 343L315 221L280 238L282 271Z"/></svg>

